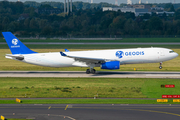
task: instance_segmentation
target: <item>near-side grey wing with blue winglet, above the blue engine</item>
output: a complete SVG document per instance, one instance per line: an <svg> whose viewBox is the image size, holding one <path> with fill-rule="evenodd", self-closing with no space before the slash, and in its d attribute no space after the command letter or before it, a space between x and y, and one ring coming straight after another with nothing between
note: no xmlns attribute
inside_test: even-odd
<svg viewBox="0 0 180 120"><path fill-rule="evenodd" d="M88 58L88 57L79 57L79 56L69 56L69 55L66 55L63 52L60 52L60 54L61 54L61 56L69 57L69 58L74 58L75 61L85 62L86 64L89 64L89 63L104 63L106 61L112 61L112 60L100 59L100 58Z"/></svg>

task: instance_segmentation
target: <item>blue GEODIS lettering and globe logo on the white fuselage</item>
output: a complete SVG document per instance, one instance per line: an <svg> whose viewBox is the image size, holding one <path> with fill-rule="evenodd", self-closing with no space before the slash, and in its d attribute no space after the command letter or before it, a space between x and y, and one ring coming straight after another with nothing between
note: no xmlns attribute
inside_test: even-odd
<svg viewBox="0 0 180 120"><path fill-rule="evenodd" d="M123 52L117 51L116 57L122 58L123 56L136 56L136 55L144 55L144 51L133 51L133 52Z"/></svg>

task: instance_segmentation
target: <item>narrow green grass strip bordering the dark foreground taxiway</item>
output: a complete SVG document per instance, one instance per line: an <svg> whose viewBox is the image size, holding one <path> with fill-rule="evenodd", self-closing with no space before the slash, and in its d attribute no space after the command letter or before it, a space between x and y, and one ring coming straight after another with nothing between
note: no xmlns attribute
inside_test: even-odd
<svg viewBox="0 0 180 120"><path fill-rule="evenodd" d="M43 99L23 100L16 103L15 100L0 100L0 104L180 104L169 99L168 102L157 102L157 100L145 99Z"/></svg>

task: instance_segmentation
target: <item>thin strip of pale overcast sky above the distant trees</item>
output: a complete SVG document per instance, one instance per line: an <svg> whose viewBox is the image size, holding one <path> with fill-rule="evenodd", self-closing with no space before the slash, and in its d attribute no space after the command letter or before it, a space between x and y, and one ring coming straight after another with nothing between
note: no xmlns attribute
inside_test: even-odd
<svg viewBox="0 0 180 120"><path fill-rule="evenodd" d="M10 0L10 1L17 1L17 0ZM59 2L64 2L64 0L20 0L22 2L24 1L36 1L36 2L43 2L43 1L59 1ZM66 0L67 1L67 0ZM70 0L69 0L70 1ZM73 0L73 1L83 1L83 2L90 2L91 0ZM139 0L131 0L134 4L138 3ZM180 0L142 0L143 3L180 3ZM100 2L107 2L111 4L115 4L115 0L93 0L94 3L100 3ZM118 4L121 3L127 3L127 0L118 0Z"/></svg>

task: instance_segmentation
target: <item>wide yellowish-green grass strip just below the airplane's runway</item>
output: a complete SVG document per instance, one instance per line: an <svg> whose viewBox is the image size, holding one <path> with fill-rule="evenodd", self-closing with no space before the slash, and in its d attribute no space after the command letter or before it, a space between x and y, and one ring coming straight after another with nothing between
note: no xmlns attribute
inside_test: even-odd
<svg viewBox="0 0 180 120"><path fill-rule="evenodd" d="M161 98L179 95L179 79L1 78L0 98ZM161 85L174 84L175 88Z"/></svg>

